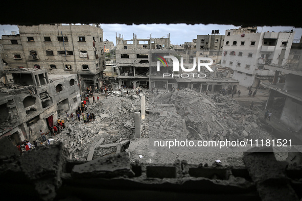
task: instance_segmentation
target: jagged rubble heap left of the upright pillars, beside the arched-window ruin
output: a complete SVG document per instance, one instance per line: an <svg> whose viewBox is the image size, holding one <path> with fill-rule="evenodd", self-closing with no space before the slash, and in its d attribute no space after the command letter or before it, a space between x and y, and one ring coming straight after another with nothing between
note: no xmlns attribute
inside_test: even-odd
<svg viewBox="0 0 302 201"><path fill-rule="evenodd" d="M140 96L112 93L102 102L88 105L86 113L94 113L95 121L87 124L77 118L74 122L67 121L68 126L50 143L64 142L69 159L87 160L91 147L94 153L91 159L117 153L117 149L121 152L134 136L134 112L140 109Z"/></svg>

